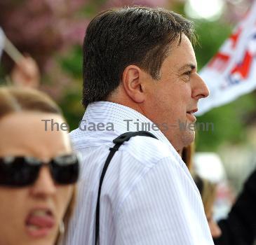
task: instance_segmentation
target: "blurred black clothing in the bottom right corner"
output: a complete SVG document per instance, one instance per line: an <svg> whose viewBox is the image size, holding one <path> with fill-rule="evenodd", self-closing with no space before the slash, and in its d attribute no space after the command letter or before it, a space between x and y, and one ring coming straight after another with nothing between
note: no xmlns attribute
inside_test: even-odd
<svg viewBox="0 0 256 245"><path fill-rule="evenodd" d="M256 239L256 169L243 186L243 190L226 219L218 222L221 237L215 245L252 245Z"/></svg>

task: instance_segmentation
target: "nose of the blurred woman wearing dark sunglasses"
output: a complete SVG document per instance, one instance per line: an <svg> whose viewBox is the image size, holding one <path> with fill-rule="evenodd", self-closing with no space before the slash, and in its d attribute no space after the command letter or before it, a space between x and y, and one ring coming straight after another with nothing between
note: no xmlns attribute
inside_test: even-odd
<svg viewBox="0 0 256 245"><path fill-rule="evenodd" d="M42 167L36 182L31 188L31 194L35 197L48 197L54 195L55 192L56 186L48 167Z"/></svg>

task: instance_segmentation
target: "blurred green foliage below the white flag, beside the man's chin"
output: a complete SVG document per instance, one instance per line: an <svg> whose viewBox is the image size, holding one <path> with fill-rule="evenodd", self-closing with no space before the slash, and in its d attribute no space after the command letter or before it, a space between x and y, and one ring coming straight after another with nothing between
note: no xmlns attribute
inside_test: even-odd
<svg viewBox="0 0 256 245"><path fill-rule="evenodd" d="M224 142L245 141L245 120L255 111L255 104L255 94L245 94L230 104L215 108L198 117L198 123L213 123L214 129L208 132L198 130L197 151L217 151Z"/></svg>

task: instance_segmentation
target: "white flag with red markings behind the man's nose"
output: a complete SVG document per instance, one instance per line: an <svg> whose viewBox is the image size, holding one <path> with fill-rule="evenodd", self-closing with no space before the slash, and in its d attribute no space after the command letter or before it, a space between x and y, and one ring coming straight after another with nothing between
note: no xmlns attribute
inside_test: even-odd
<svg viewBox="0 0 256 245"><path fill-rule="evenodd" d="M210 96L198 102L197 116L227 104L256 87L256 1L200 76Z"/></svg>

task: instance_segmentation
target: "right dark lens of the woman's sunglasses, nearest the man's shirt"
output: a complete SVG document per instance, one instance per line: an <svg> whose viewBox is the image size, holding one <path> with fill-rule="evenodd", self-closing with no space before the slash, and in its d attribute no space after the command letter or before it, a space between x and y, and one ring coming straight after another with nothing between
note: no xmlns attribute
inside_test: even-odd
<svg viewBox="0 0 256 245"><path fill-rule="evenodd" d="M53 179L59 184L72 184L79 179L79 159L75 154L55 158L51 166Z"/></svg>

